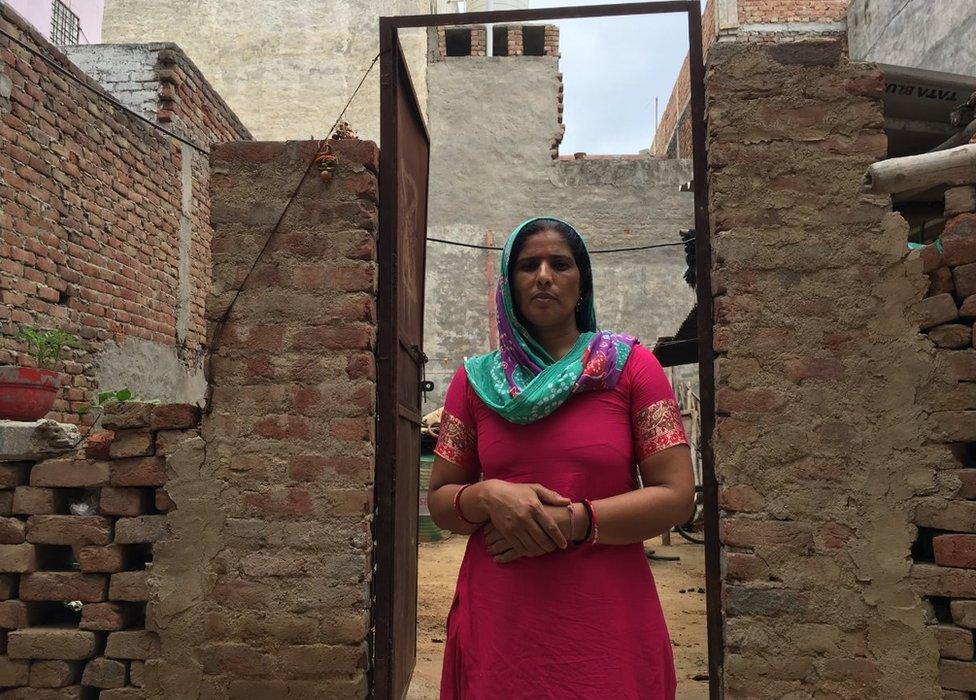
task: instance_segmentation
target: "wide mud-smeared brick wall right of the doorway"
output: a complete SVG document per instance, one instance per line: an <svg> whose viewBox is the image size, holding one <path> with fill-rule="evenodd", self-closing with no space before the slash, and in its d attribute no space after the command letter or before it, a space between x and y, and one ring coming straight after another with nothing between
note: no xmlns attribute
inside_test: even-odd
<svg viewBox="0 0 976 700"><path fill-rule="evenodd" d="M712 48L726 697L943 698L927 597L976 597L971 570L912 562L976 404L918 332L908 225L862 191L883 93L842 39Z"/></svg>

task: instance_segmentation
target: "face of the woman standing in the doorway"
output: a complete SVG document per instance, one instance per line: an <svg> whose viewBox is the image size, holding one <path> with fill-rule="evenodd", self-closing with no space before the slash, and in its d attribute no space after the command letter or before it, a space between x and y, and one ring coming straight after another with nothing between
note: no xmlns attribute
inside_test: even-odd
<svg viewBox="0 0 976 700"><path fill-rule="evenodd" d="M580 271L561 235L547 230L526 239L513 266L512 292L532 328L576 327Z"/></svg>

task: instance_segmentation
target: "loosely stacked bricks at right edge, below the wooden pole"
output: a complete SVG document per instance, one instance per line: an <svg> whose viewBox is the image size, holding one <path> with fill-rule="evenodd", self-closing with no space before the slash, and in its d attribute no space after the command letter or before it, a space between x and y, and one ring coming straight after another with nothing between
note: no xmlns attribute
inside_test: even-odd
<svg viewBox="0 0 976 700"><path fill-rule="evenodd" d="M945 220L938 243L921 251L929 288L917 309L923 333L959 382L934 414L933 437L954 458L936 472L940 493L916 509L912 574L931 605L945 698L964 700L976 692L976 186L946 191Z"/></svg>

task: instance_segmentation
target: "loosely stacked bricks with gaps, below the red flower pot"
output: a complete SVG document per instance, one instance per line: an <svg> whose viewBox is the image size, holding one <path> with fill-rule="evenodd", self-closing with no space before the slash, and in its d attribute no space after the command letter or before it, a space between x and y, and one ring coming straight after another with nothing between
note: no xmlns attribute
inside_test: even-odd
<svg viewBox="0 0 976 700"><path fill-rule="evenodd" d="M145 697L166 456L199 409L117 404L80 451L0 463L0 688L7 698Z"/></svg>

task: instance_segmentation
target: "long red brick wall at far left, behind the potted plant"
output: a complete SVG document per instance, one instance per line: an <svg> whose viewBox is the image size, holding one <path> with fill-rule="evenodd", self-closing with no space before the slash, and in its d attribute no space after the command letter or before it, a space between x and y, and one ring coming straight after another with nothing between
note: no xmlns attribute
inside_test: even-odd
<svg viewBox="0 0 976 700"><path fill-rule="evenodd" d="M96 86L9 7L0 26ZM249 138L177 49L155 56L161 120L204 147ZM87 343L65 362L51 418L76 421L103 381L169 398L201 365L208 173L204 156L0 37L0 363L30 364L22 324ZM166 358L171 371L154 375Z"/></svg>

